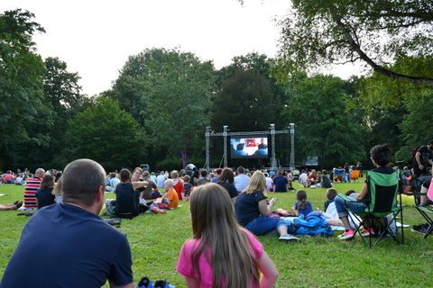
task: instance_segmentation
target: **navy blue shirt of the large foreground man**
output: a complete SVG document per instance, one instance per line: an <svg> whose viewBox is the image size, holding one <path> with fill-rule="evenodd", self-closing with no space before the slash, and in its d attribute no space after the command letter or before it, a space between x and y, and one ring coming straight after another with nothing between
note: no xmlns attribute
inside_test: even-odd
<svg viewBox="0 0 433 288"><path fill-rule="evenodd" d="M96 288L134 282L131 248L123 232L69 204L43 207L23 229L1 288Z"/></svg>

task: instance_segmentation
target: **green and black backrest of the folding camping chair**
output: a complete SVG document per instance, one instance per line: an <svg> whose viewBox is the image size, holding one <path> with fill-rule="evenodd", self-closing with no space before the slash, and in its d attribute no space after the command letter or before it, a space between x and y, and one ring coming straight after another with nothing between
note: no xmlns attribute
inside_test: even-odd
<svg viewBox="0 0 433 288"><path fill-rule="evenodd" d="M397 205L397 194L400 191L399 175L399 170L392 174L368 172L367 185L371 202L365 211L373 212L376 217L383 217L400 210Z"/></svg>

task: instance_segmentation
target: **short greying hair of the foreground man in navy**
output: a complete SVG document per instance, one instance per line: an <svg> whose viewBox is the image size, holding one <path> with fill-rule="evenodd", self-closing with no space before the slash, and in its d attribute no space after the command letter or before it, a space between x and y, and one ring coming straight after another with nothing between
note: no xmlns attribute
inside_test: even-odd
<svg viewBox="0 0 433 288"><path fill-rule="evenodd" d="M99 187L105 186L105 183L106 171L99 163L91 159L78 159L65 167L56 189L63 195L63 202L91 206Z"/></svg>

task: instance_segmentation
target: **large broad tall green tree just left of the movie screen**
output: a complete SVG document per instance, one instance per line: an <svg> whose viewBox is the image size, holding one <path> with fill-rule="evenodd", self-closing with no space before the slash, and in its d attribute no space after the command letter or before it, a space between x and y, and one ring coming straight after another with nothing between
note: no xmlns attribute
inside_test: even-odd
<svg viewBox="0 0 433 288"><path fill-rule="evenodd" d="M145 49L128 58L106 94L143 125L150 157L203 157L215 81L210 61L178 49Z"/></svg>

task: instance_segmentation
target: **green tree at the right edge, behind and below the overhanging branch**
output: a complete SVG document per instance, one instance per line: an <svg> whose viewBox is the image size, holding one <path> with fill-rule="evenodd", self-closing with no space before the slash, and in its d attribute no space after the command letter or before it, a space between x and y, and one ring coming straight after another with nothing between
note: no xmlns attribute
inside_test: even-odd
<svg viewBox="0 0 433 288"><path fill-rule="evenodd" d="M399 59L392 69L401 74L433 75L433 58ZM414 147L428 142L431 116L427 107L432 87L373 73L364 78L359 91L358 106L364 107L364 119L373 130L373 138L390 143L396 151L396 161L409 160Z"/></svg>

